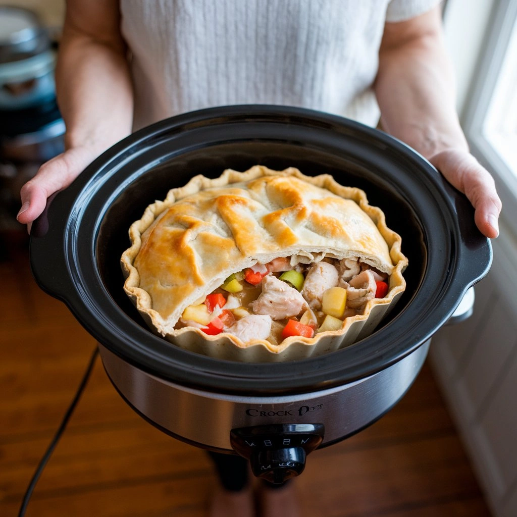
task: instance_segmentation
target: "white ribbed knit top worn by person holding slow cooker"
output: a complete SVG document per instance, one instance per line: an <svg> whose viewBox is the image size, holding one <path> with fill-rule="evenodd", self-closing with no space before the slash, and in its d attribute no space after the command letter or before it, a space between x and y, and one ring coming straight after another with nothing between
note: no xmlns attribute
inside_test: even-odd
<svg viewBox="0 0 517 517"><path fill-rule="evenodd" d="M134 128L228 104L284 104L376 125L386 21L439 0L120 0Z"/></svg>

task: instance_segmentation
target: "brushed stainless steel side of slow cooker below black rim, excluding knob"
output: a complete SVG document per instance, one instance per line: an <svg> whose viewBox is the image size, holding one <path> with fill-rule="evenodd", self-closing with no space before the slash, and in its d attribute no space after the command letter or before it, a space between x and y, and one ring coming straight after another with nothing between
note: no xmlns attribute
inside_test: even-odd
<svg viewBox="0 0 517 517"><path fill-rule="evenodd" d="M373 423L414 382L430 340L404 359L359 381L328 390L284 397L247 397L190 389L144 372L99 344L112 383L148 420L179 439L232 451L230 432L271 423L322 423L322 446Z"/></svg>

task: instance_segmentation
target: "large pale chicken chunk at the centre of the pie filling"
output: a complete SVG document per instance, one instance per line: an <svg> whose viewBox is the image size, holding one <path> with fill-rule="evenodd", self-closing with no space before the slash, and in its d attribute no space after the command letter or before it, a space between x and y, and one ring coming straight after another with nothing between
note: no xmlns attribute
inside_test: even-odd
<svg viewBox="0 0 517 517"><path fill-rule="evenodd" d="M273 320L296 316L306 306L301 293L273 275L262 279L262 293L251 303L255 314L268 314Z"/></svg>

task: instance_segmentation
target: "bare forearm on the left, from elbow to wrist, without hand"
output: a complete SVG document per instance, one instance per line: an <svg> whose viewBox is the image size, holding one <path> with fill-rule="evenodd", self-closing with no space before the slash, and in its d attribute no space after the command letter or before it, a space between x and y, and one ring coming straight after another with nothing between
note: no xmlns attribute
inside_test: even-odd
<svg viewBox="0 0 517 517"><path fill-rule="evenodd" d="M133 92L121 43L65 26L56 90L67 148L86 145L101 153L131 132Z"/></svg>

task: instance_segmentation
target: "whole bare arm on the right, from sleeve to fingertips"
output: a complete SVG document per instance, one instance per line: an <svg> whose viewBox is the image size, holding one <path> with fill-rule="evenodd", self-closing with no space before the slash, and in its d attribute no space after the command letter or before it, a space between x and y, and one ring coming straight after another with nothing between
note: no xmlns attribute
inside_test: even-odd
<svg viewBox="0 0 517 517"><path fill-rule="evenodd" d="M419 151L475 208L487 237L497 237L501 201L494 180L468 152L455 107L452 66L439 7L384 28L375 94L381 124Z"/></svg>

